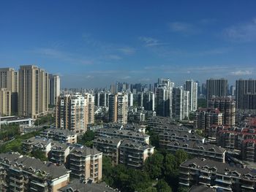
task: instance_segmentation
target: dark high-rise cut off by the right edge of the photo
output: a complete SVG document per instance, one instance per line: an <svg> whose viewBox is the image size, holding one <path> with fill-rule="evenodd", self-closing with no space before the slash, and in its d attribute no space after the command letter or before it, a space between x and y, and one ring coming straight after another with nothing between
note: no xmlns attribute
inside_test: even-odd
<svg viewBox="0 0 256 192"><path fill-rule="evenodd" d="M236 80L236 108L256 110L256 80Z"/></svg>

